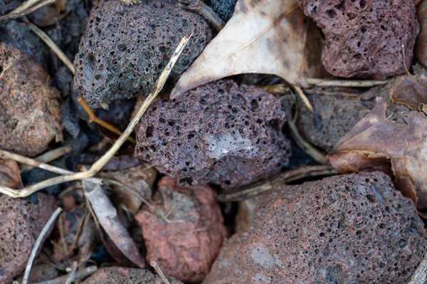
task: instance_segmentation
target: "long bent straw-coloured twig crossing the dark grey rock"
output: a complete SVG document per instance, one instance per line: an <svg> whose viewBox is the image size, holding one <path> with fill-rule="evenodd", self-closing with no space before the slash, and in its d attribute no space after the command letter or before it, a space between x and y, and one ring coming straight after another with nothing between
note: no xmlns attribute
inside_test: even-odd
<svg viewBox="0 0 427 284"><path fill-rule="evenodd" d="M160 92L160 90L162 90L164 83L169 77L169 74L171 73L172 68L174 67L179 56L181 55L181 52L184 50L186 43L189 41L189 38L186 38L186 37L182 38L181 42L179 43L179 46L176 48L175 52L173 53L169 62L167 63L166 68L164 68L162 74L160 74L159 80L157 81L156 88L152 93L149 94L147 99L144 100L144 103L139 108L135 117L133 117L130 124L127 125L125 132L123 132L122 135L120 135L120 137L115 141L112 147L102 157L100 157L100 159L98 159L92 165L92 167L88 169L88 171L63 175L60 177L53 177L52 179L46 179L43 182L39 182L37 184L33 184L32 186L27 186L19 190L9 189L8 187L0 187L0 193L6 194L7 196L10 196L12 198L25 197L33 194L34 192L40 189L44 189L47 186L62 184L63 182L72 182L78 179L88 179L90 177L93 177L97 172L99 172L102 169L102 167L105 166L105 164L107 164L107 162L114 156L117 150L120 149L122 144L125 143L125 141L127 140L127 137L130 136L133 129L135 128L135 125L137 125L137 122L141 119L142 115L144 115L144 112L147 110L147 108L152 103L152 101L157 97L157 94ZM96 182L96 183L99 184L99 182Z"/></svg>

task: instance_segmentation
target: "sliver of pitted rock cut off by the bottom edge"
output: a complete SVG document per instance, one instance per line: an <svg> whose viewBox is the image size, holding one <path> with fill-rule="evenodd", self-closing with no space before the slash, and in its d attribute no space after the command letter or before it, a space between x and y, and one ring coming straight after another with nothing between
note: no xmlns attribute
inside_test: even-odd
<svg viewBox="0 0 427 284"><path fill-rule="evenodd" d="M181 281L167 276L171 284L182 284ZM98 269L83 284L163 284L162 278L146 269L107 267Z"/></svg>

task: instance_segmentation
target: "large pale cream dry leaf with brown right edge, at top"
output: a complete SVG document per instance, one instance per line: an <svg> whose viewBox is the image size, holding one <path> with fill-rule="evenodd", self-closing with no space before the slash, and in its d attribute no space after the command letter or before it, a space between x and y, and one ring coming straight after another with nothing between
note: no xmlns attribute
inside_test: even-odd
<svg viewBox="0 0 427 284"><path fill-rule="evenodd" d="M323 70L322 38L310 23L295 0L238 0L233 17L181 75L171 98L242 73L275 74L307 87L305 78Z"/></svg>

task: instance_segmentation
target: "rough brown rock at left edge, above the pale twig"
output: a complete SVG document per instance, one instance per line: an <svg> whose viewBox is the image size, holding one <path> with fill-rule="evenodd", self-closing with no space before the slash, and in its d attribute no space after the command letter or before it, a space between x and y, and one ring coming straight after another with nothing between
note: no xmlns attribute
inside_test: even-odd
<svg viewBox="0 0 427 284"><path fill-rule="evenodd" d="M62 139L59 93L47 80L43 66L0 43L0 149L35 156Z"/></svg>

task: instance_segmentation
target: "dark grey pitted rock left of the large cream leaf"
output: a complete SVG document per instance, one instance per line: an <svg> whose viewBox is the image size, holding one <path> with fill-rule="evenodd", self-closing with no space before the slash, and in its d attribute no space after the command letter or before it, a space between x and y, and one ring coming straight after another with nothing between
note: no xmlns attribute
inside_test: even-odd
<svg viewBox="0 0 427 284"><path fill-rule="evenodd" d="M159 1L126 6L102 0L90 12L75 56L74 88L90 107L148 95L181 38L191 33L170 75L174 82L211 38L204 19Z"/></svg>

